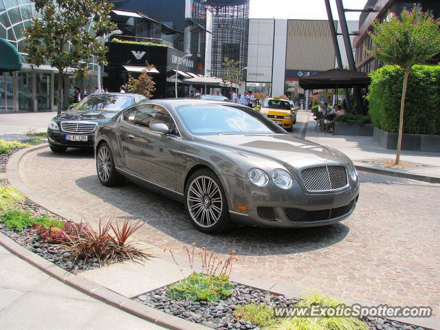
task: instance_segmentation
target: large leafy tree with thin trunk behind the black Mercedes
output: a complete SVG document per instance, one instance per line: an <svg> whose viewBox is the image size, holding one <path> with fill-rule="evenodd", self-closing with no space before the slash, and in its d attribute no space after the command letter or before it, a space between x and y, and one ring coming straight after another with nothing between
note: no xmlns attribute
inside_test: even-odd
<svg viewBox="0 0 440 330"><path fill-rule="evenodd" d="M58 114L61 113L64 75L69 67L88 70L95 56L105 64L107 47L96 37L115 29L110 20L112 3L96 0L35 0L42 19L34 18L26 28L27 61L39 67L49 63L58 69Z"/></svg>

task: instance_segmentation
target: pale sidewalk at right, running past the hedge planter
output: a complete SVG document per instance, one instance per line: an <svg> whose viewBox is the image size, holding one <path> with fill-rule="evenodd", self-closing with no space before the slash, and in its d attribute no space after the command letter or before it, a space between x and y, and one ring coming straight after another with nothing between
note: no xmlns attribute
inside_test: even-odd
<svg viewBox="0 0 440 330"><path fill-rule="evenodd" d="M299 113L298 121L302 124L298 136L305 135L305 138L311 142L342 151L353 159L357 166L440 178L440 153L402 151L401 161L407 162L408 166L400 169L388 168L380 163L385 160L393 161L396 151L383 148L373 140L372 136L333 135L333 133L320 132L315 130L316 121L311 113Z"/></svg>

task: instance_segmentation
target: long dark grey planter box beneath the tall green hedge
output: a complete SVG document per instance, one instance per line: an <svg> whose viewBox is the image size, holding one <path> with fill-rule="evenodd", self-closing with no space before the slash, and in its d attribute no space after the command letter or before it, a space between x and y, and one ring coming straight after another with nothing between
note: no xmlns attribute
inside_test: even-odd
<svg viewBox="0 0 440 330"><path fill-rule="evenodd" d="M382 131L374 128L375 142L387 149L397 149L397 133ZM402 150L430 151L440 153L440 135L404 134L401 139Z"/></svg>

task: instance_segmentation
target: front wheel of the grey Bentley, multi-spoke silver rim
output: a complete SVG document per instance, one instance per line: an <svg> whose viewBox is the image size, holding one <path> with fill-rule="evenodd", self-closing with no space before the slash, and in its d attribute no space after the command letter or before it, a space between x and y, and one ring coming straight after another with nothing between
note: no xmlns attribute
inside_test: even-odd
<svg viewBox="0 0 440 330"><path fill-rule="evenodd" d="M185 207L192 225L215 234L230 228L228 201L217 175L208 169L191 175L185 189Z"/></svg>

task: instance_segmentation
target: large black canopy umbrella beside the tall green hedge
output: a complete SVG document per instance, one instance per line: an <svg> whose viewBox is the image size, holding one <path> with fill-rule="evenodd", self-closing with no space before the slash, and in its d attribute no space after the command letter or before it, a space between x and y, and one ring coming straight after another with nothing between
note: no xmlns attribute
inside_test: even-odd
<svg viewBox="0 0 440 330"><path fill-rule="evenodd" d="M371 78L363 72L346 69L331 69L308 77L300 78L300 87L303 89L336 89L366 87Z"/></svg>

